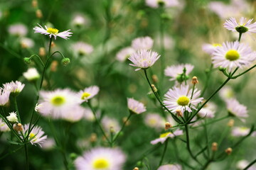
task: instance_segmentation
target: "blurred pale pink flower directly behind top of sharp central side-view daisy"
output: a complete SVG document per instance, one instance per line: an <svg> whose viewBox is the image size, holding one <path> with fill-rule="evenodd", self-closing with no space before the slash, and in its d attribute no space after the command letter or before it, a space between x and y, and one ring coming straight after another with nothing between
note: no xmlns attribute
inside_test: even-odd
<svg viewBox="0 0 256 170"><path fill-rule="evenodd" d="M140 37L132 40L132 48L134 50L150 50L153 47L154 40L150 37Z"/></svg>

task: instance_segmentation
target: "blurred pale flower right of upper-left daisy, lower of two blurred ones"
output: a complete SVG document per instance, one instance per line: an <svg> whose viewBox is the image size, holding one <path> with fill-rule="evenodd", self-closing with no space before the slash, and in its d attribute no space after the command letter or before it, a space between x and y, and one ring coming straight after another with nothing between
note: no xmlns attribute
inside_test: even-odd
<svg viewBox="0 0 256 170"><path fill-rule="evenodd" d="M73 44L73 50L78 55L90 55L93 52L93 47L85 42L75 42Z"/></svg>

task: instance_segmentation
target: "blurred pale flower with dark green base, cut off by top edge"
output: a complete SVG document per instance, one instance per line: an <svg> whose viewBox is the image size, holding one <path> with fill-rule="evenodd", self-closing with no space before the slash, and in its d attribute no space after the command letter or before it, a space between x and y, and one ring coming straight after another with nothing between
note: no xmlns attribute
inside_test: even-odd
<svg viewBox="0 0 256 170"><path fill-rule="evenodd" d="M151 8L158 8L159 6L172 7L178 6L177 0L146 0L146 5Z"/></svg>

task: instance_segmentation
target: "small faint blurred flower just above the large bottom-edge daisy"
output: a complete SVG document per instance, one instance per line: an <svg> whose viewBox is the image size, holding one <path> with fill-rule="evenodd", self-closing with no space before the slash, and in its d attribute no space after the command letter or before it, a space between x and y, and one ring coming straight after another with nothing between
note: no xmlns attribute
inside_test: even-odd
<svg viewBox="0 0 256 170"><path fill-rule="evenodd" d="M102 121L103 128L107 132L110 132L111 130L112 132L119 132L119 130L121 130L119 123L114 118L109 118L105 116L104 118L102 118L101 121Z"/></svg>

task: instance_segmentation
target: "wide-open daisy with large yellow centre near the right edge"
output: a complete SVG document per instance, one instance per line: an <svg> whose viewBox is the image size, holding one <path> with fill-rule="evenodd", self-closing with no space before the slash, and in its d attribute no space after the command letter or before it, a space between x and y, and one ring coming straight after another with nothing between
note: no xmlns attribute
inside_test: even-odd
<svg viewBox="0 0 256 170"><path fill-rule="evenodd" d="M246 67L255 60L251 48L244 43L223 42L222 46L216 47L213 52L214 67L227 68L229 72L234 67Z"/></svg>

